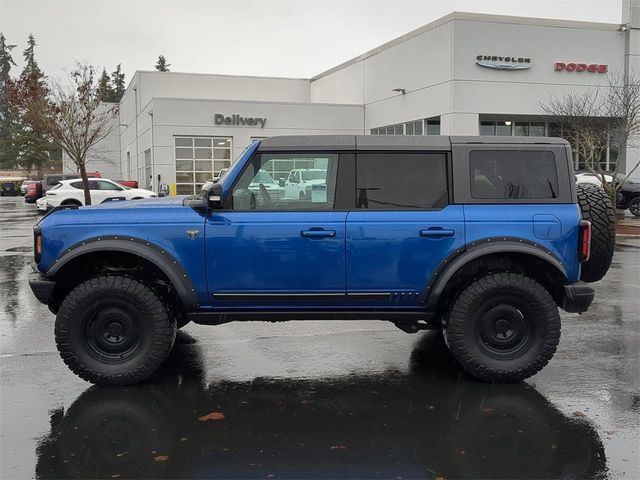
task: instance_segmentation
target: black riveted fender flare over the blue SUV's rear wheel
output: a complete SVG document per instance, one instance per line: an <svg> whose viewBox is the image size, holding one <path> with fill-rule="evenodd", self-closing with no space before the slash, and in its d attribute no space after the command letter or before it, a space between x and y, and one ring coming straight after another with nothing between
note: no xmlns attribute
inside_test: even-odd
<svg viewBox="0 0 640 480"><path fill-rule="evenodd" d="M555 267L565 279L567 278L567 270L562 260L538 243L521 238L484 238L457 249L440 263L425 290L424 303L427 311L436 311L442 292L458 270L477 258L495 253L523 253L535 256Z"/></svg>

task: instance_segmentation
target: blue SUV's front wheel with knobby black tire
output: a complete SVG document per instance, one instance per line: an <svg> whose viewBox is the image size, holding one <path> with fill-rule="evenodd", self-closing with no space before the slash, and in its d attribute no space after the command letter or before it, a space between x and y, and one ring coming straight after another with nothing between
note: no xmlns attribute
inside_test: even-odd
<svg viewBox="0 0 640 480"><path fill-rule="evenodd" d="M128 277L89 279L58 310L56 345L67 366L99 385L132 385L149 378L173 347L176 324L162 300Z"/></svg>

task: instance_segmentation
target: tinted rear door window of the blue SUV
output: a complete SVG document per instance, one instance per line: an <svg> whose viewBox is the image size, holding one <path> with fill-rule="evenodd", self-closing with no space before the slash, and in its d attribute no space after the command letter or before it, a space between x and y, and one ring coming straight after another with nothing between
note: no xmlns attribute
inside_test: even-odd
<svg viewBox="0 0 640 480"><path fill-rule="evenodd" d="M356 169L357 208L413 210L447 204L444 154L362 153Z"/></svg>

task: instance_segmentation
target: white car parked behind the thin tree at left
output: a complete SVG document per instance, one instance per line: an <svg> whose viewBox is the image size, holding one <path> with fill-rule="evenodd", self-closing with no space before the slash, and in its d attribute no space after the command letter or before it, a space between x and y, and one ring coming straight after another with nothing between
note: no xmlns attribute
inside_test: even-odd
<svg viewBox="0 0 640 480"><path fill-rule="evenodd" d="M89 191L91 203L97 205L105 201L140 200L157 197L157 194L142 188L129 188L107 178L90 178ZM62 180L47 191L47 195L36 201L38 210L49 210L60 205L84 205L84 189L82 180Z"/></svg>

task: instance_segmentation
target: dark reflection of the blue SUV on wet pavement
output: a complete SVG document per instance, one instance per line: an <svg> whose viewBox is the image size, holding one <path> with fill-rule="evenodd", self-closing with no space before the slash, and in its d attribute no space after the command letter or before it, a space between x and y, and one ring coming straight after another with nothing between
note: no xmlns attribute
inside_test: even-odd
<svg viewBox="0 0 640 480"><path fill-rule="evenodd" d="M416 345L407 373L210 384L197 344L178 345L160 380L92 387L53 412L51 432L36 447L36 475L586 478L605 471L602 441L588 421L562 415L525 383L459 380L430 339Z"/></svg>

